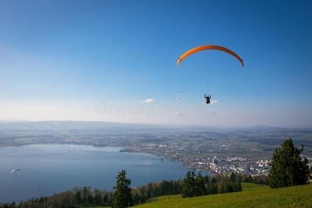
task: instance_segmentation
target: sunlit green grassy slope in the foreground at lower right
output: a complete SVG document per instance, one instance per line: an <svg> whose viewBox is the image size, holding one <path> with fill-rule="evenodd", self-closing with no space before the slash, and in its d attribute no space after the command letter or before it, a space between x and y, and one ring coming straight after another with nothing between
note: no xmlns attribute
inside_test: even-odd
<svg viewBox="0 0 312 208"><path fill-rule="evenodd" d="M260 186L260 187L259 187ZM150 204L137 207L312 207L312 184L269 189L257 184L243 184L248 191L177 199L161 196Z"/></svg>

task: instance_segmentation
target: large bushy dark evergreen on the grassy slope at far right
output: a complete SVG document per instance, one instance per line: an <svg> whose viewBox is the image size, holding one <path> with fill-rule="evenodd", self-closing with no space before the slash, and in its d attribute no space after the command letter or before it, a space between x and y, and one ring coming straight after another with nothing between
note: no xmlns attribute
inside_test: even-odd
<svg viewBox="0 0 312 208"><path fill-rule="evenodd" d="M271 188L291 187L306 184L309 177L308 161L300 154L303 151L287 139L277 147L270 163L269 184Z"/></svg>

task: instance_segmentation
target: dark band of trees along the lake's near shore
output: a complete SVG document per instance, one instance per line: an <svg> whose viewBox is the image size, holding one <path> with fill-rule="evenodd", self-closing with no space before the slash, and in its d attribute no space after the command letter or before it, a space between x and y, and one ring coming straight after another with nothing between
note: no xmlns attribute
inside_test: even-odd
<svg viewBox="0 0 312 208"><path fill-rule="evenodd" d="M250 176L251 177L251 176ZM249 182L250 177L232 173L232 175L196 175L189 171L183 180L162 180L150 182L142 187L130 188L131 180L125 171L117 176L115 191L92 189L92 187L74 187L71 191L56 193L49 197L31 198L21 201L0 204L0 208L56 208L76 206L130 207L146 202L150 198L164 195L181 194L182 198L216 193L241 191L241 182ZM254 177L251 177L254 178Z"/></svg>

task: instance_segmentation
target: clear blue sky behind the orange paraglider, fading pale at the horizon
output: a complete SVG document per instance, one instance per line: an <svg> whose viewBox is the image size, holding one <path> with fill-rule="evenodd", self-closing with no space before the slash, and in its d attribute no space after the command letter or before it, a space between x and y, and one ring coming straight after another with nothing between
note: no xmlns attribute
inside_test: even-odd
<svg viewBox="0 0 312 208"><path fill-rule="evenodd" d="M0 119L311 126L311 9L311 1L1 1ZM206 44L235 51L245 67L212 50L176 66ZM205 92L218 101L213 117L94 110L103 101L177 104L180 93L202 107Z"/></svg>

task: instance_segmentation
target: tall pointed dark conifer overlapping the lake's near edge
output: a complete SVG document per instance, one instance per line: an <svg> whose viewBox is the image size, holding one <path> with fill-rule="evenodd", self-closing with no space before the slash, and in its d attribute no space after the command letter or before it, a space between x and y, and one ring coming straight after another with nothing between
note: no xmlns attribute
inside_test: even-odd
<svg viewBox="0 0 312 208"><path fill-rule="evenodd" d="M119 172L119 175L116 177L116 191L113 195L112 207L121 208L121 207L130 207L132 206L132 196L131 196L131 180L126 177L125 170Z"/></svg>

